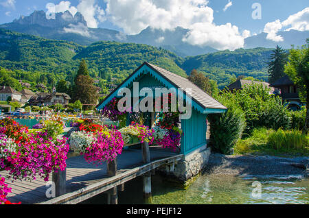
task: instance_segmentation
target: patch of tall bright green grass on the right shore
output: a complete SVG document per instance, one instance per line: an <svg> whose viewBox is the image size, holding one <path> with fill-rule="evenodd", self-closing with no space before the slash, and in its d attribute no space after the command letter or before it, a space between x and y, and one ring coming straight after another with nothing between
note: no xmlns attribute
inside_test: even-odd
<svg viewBox="0 0 309 218"><path fill-rule="evenodd" d="M309 135L299 130L267 130L259 128L234 146L235 154L273 156L308 156Z"/></svg>

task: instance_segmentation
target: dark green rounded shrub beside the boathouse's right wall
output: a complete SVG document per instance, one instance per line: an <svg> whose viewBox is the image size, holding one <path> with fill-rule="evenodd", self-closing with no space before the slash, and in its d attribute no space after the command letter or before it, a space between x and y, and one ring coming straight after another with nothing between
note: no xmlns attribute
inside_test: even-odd
<svg viewBox="0 0 309 218"><path fill-rule="evenodd" d="M227 112L211 114L210 123L211 147L222 154L229 154L231 148L242 137L246 127L244 112L235 104L225 104Z"/></svg>

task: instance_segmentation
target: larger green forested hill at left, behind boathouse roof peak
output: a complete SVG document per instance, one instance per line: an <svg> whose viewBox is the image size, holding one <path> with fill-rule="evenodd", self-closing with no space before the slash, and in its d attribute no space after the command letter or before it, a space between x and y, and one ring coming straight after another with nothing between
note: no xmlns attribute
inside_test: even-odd
<svg viewBox="0 0 309 218"><path fill-rule="evenodd" d="M72 82L81 59L87 60L89 73L101 88L119 84L144 61L186 76L180 67L183 58L150 45L100 41L86 47L0 29L0 66L12 70L0 75L0 82L10 75L51 88L58 80Z"/></svg>

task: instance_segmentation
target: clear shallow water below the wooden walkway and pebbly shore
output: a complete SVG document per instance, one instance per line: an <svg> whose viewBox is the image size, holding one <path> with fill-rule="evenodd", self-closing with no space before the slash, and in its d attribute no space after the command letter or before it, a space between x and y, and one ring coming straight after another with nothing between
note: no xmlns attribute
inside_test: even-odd
<svg viewBox="0 0 309 218"><path fill-rule="evenodd" d="M259 193L259 187L260 197L253 197ZM298 176L201 175L183 189L160 175L152 175L152 204L309 204L308 187L309 180ZM125 191L119 192L118 197L119 204L144 204L141 178L126 183ZM98 195L82 204L106 204L106 195Z"/></svg>

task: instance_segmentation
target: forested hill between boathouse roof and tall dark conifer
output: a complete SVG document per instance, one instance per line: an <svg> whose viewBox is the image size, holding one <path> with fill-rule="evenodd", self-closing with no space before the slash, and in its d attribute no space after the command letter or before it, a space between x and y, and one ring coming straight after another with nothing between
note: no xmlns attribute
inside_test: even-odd
<svg viewBox="0 0 309 218"><path fill-rule="evenodd" d="M267 81L267 62L271 53L273 49L265 48L218 51L187 57L181 67L188 75L193 69L201 71L211 80L215 80L219 88L224 88L231 77L238 75Z"/></svg>

